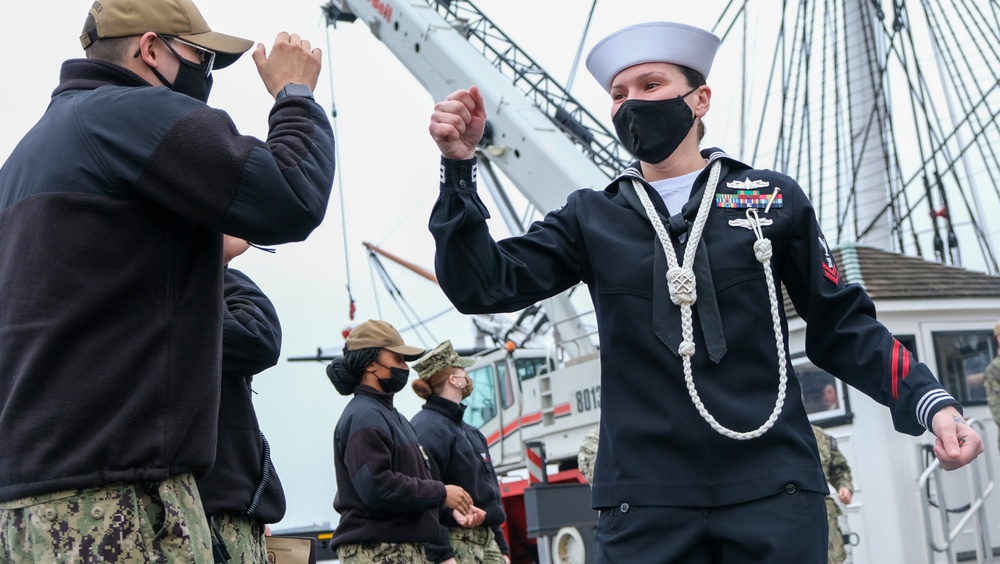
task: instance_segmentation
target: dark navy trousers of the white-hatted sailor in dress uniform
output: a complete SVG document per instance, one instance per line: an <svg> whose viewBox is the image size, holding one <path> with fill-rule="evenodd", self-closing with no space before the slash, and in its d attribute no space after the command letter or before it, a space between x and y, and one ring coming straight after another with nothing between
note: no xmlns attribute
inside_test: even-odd
<svg viewBox="0 0 1000 564"><path fill-rule="evenodd" d="M722 507L601 509L601 564L826 564L823 495L785 492Z"/></svg>

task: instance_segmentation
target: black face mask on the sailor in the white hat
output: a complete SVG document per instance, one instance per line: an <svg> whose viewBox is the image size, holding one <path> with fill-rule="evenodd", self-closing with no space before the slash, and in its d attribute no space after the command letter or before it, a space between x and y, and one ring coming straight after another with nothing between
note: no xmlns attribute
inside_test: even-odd
<svg viewBox="0 0 1000 564"><path fill-rule="evenodd" d="M640 161L662 162L694 125L694 113L684 98L697 89L666 100L627 100L611 119L618 140Z"/></svg>

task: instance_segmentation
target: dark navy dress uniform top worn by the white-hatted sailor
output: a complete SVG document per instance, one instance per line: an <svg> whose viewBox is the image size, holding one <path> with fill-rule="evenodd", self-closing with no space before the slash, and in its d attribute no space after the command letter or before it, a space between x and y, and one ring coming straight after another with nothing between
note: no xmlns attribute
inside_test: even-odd
<svg viewBox="0 0 1000 564"><path fill-rule="evenodd" d="M736 195L759 180L765 196L780 188L773 221L763 235L774 248L771 269L796 311L808 322L806 352L822 368L888 406L895 428L919 435L945 405L957 405L923 364L875 319L871 299L845 284L830 256L802 189L788 176L754 170L717 149L702 155L720 161L716 194ZM494 242L488 212L476 195L475 161L442 163L441 193L430 218L437 241L441 287L464 313L516 311L583 281L596 310L601 354L601 431L593 484L595 508L720 506L759 499L789 484L825 493L816 441L787 352L789 381L784 409L762 437L738 441L718 434L698 414L684 382L681 359L667 346L680 331L678 306L666 287L666 258L633 188L650 195L663 223L667 210L633 166L605 190L578 190L523 236ZM694 184L682 217L693 217L706 168ZM739 183L739 184L737 184ZM778 358L765 275L754 233L730 224L745 209L713 206L702 240L728 352L719 362L706 353L695 304L694 383L708 412L736 431L758 428L774 408ZM677 223L676 221L674 222ZM683 250L677 234L674 245ZM697 265L695 270L697 271Z"/></svg>

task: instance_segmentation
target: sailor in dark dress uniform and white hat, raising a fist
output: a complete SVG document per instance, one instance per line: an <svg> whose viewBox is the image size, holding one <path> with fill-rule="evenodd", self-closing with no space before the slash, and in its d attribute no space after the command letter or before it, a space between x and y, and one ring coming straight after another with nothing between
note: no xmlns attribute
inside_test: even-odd
<svg viewBox="0 0 1000 564"><path fill-rule="evenodd" d="M442 162L430 230L452 303L517 311L581 281L590 291L602 370L600 562L826 561L826 484L782 288L807 322L816 366L887 406L896 430L934 432L942 467L982 452L960 404L876 320L864 289L844 283L799 185L699 150L718 45L670 22L598 42L588 69L639 160L499 242L476 194L482 94L456 91L431 116Z"/></svg>

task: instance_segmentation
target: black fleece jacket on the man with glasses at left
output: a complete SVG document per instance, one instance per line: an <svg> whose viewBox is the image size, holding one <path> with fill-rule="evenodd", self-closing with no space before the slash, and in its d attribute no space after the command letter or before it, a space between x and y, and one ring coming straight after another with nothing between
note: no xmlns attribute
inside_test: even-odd
<svg viewBox="0 0 1000 564"><path fill-rule="evenodd" d="M220 233L302 240L332 186L323 108L284 98L269 125L63 65L0 168L0 501L212 466Z"/></svg>

